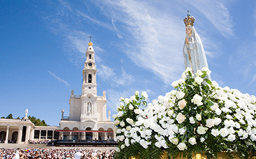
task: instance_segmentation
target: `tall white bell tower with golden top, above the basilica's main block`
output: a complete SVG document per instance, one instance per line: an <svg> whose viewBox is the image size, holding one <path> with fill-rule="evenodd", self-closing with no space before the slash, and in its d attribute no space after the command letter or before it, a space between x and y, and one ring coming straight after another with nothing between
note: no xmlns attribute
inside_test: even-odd
<svg viewBox="0 0 256 159"><path fill-rule="evenodd" d="M93 96L97 96L97 83L96 83L96 65L94 59L93 43L91 41L92 36L89 36L90 42L86 50L86 60L83 69L83 86L82 96L86 96L88 93Z"/></svg>

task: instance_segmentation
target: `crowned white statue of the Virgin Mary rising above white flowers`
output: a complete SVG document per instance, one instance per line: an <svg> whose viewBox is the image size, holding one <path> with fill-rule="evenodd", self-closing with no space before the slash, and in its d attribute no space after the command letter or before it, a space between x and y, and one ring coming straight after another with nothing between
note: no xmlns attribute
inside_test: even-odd
<svg viewBox="0 0 256 159"><path fill-rule="evenodd" d="M208 64L201 38L193 26L194 22L195 18L188 13L188 17L184 19L184 23L186 24L186 38L183 47L183 56L185 69L187 67L191 68L195 75L197 70L202 70L203 67L208 68ZM207 76L207 79L211 80L210 75Z"/></svg>

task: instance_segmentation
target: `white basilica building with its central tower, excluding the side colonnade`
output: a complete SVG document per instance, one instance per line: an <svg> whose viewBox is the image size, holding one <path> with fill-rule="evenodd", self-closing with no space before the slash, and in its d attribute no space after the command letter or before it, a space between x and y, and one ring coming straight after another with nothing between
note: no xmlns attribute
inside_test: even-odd
<svg viewBox="0 0 256 159"><path fill-rule="evenodd" d="M88 43L86 61L83 68L82 95L74 95L71 91L69 116L63 116L60 121L60 136L62 139L106 140L113 139L113 122L111 112L106 112L106 92L97 96L96 65L93 43Z"/></svg>

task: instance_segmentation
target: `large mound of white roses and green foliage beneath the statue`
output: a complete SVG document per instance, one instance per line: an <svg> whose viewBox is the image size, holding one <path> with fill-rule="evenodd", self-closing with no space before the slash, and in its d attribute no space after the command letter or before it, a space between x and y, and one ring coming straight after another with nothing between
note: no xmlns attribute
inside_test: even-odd
<svg viewBox="0 0 256 159"><path fill-rule="evenodd" d="M194 77L191 68L173 82L173 91L145 102L146 92L120 98L114 114L118 147L115 158L191 158L200 153L217 158L255 156L256 98L237 89L220 87L207 79L211 71L202 68ZM140 106L145 109L141 110Z"/></svg>

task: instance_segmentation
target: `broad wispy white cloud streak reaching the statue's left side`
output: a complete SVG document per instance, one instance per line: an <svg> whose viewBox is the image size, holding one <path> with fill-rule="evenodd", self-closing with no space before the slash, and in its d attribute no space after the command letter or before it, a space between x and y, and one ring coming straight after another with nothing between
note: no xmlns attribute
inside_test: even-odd
<svg viewBox="0 0 256 159"><path fill-rule="evenodd" d="M182 46L184 27L174 15L138 1L104 1L104 15L118 22L126 32L123 43L118 45L137 66L156 73L170 83L184 70ZM141 7L143 6L143 7ZM115 19L115 20L113 20ZM113 25L115 28L116 25Z"/></svg>

